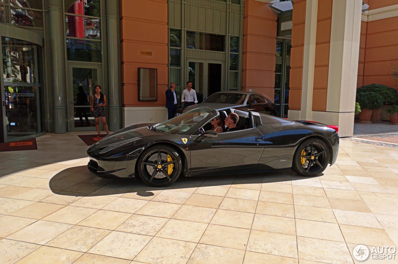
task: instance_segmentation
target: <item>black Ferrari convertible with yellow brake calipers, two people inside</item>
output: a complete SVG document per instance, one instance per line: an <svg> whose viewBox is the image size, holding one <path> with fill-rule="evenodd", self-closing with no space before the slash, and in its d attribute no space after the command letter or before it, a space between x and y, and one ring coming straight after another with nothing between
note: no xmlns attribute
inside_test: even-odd
<svg viewBox="0 0 398 264"><path fill-rule="evenodd" d="M238 114L240 130L211 130L211 120L224 120L230 112ZM116 131L87 154L88 169L100 177L138 175L148 185L167 186L180 175L291 169L316 176L336 161L338 148L337 131L324 124L199 107L164 123Z"/></svg>

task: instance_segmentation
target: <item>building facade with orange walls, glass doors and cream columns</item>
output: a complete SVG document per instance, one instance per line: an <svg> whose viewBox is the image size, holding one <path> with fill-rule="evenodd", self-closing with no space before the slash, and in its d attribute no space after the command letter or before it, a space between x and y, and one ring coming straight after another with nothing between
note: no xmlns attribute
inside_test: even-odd
<svg viewBox="0 0 398 264"><path fill-rule="evenodd" d="M352 135L356 88L395 87L398 0L276 2L0 0L0 141L95 131L96 85L111 131L162 122L165 91L176 83L179 99L188 80L203 98L253 90L282 117Z"/></svg>

